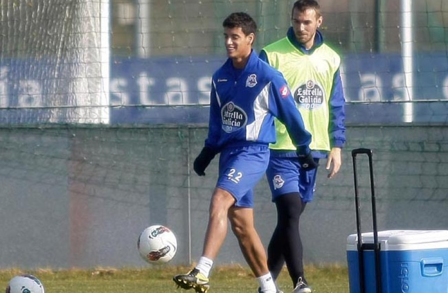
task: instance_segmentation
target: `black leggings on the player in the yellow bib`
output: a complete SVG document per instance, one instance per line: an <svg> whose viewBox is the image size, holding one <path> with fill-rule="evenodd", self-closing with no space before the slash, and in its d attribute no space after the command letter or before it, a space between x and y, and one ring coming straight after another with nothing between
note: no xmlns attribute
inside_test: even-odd
<svg viewBox="0 0 448 293"><path fill-rule="evenodd" d="M268 268L277 279L286 261L289 276L296 286L303 274L303 247L299 234L299 219L305 209L298 192L283 194L275 200L277 226L268 246Z"/></svg>

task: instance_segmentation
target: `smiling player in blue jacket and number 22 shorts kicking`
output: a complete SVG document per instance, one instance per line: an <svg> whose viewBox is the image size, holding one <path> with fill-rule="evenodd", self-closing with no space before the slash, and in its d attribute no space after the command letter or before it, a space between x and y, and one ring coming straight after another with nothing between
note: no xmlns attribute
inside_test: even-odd
<svg viewBox="0 0 448 293"><path fill-rule="evenodd" d="M255 184L269 162L269 144L275 143L274 117L286 126L303 168L317 167L311 155L311 135L296 108L282 74L261 61L252 50L256 23L244 12L223 22L228 59L212 78L209 133L194 161L203 176L220 153L219 177L213 192L202 257L186 275L174 276L183 289L207 292L209 273L227 232L227 218L262 293L276 293L266 253L253 224Z"/></svg>

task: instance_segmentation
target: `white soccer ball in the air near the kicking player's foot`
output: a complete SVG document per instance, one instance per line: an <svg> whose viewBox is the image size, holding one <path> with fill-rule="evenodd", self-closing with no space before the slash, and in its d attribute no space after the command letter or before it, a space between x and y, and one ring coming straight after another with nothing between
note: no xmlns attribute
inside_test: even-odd
<svg viewBox="0 0 448 293"><path fill-rule="evenodd" d="M150 264L169 262L177 251L177 239L165 226L153 225L141 232L137 249L143 260Z"/></svg>

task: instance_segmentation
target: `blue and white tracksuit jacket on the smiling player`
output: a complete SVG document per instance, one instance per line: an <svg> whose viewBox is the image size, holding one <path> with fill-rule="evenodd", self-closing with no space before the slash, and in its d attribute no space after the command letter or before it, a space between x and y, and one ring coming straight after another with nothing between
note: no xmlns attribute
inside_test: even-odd
<svg viewBox="0 0 448 293"><path fill-rule="evenodd" d="M311 134L283 75L252 50L244 69L230 58L212 77L209 133L206 146L224 147L275 143L274 117L288 129L293 143L308 152Z"/></svg>

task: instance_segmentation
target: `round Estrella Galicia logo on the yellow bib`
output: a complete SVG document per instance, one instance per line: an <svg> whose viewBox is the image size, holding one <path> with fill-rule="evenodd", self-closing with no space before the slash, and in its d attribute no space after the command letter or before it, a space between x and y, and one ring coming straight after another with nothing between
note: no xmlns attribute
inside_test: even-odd
<svg viewBox="0 0 448 293"><path fill-rule="evenodd" d="M299 107L307 110L315 110L324 104L324 91L314 81L309 80L306 84L297 88L294 93L294 100Z"/></svg>

